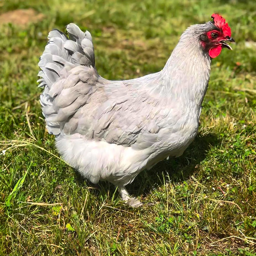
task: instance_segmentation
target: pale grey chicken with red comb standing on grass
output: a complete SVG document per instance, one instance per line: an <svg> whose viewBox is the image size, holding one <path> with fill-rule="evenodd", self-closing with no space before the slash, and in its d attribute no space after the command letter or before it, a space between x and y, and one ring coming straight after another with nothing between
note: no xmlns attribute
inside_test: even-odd
<svg viewBox="0 0 256 256"><path fill-rule="evenodd" d="M142 203L125 185L182 155L198 132L211 59L234 42L225 19L212 19L185 30L161 71L124 81L98 74L88 31L70 23L69 39L49 33L38 63L46 128L68 164L92 183L112 182L129 206Z"/></svg>

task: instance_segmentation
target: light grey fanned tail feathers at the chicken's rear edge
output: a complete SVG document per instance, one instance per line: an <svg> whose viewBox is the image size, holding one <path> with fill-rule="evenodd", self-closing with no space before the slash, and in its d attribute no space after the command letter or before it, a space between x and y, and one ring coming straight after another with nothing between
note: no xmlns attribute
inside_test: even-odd
<svg viewBox="0 0 256 256"><path fill-rule="evenodd" d="M43 115L48 120L55 116L52 102L55 96L50 96L50 89L54 83L70 69L79 65L95 68L94 49L90 32L85 33L73 23L66 27L68 37L58 29L52 30L48 35L48 43L40 57L38 66L40 71L37 80L38 87L44 88L40 96ZM50 134L60 134L61 122L46 121L46 127Z"/></svg>

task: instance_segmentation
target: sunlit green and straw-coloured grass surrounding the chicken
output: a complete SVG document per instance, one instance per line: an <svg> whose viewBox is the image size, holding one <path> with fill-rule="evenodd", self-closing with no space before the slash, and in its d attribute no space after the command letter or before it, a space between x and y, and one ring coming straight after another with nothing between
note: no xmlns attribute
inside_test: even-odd
<svg viewBox="0 0 256 256"><path fill-rule="evenodd" d="M0 25L0 255L255 256L255 1L0 1L0 15L28 8L44 19ZM127 79L159 71L213 12L236 45L212 61L199 134L128 186L156 204L128 208L111 184L82 180L45 132L36 79L47 34L88 29L99 74Z"/></svg>

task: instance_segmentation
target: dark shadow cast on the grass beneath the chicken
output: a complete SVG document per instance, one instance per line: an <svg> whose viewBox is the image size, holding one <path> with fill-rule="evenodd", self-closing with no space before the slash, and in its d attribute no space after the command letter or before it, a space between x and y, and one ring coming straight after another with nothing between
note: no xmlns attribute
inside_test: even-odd
<svg viewBox="0 0 256 256"><path fill-rule="evenodd" d="M182 156L170 157L168 160L159 162L149 171L142 171L126 188L133 196L141 196L150 194L152 189L163 186L164 180L169 180L169 177L173 181L186 180L194 174L196 165L205 159L210 148L216 148L220 143L218 137L213 133L198 134ZM115 186L107 181L100 181L95 185L83 179L78 172L75 173L76 182L79 185L98 188L95 190L96 195L100 193L102 196L106 196L109 193L112 197L116 190ZM116 196L118 195L116 193Z"/></svg>

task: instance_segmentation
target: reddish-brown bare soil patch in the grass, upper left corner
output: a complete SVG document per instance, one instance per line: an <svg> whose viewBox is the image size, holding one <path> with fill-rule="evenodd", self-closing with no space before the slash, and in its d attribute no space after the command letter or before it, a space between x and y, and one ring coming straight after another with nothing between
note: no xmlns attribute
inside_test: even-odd
<svg viewBox="0 0 256 256"><path fill-rule="evenodd" d="M35 23L44 18L43 13L37 13L34 9L18 9L5 12L0 15L0 25L12 23L21 27L27 26L29 23Z"/></svg>

